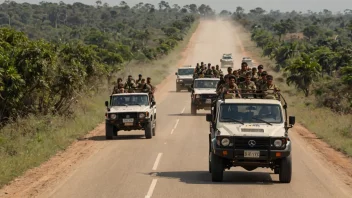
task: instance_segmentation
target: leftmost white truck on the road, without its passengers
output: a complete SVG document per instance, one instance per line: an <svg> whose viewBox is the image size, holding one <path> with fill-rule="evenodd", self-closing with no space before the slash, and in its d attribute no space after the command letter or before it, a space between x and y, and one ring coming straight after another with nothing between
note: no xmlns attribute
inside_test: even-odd
<svg viewBox="0 0 352 198"><path fill-rule="evenodd" d="M118 131L144 130L151 139L156 131L156 104L148 93L119 93L105 101L105 136L113 139Z"/></svg>

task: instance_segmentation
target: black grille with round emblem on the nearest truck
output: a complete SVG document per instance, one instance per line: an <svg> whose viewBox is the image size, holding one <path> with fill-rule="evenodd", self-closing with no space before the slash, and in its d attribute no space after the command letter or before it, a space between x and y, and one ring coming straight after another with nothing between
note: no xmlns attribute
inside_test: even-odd
<svg viewBox="0 0 352 198"><path fill-rule="evenodd" d="M268 150L270 149L270 139L263 137L235 137L235 149L254 149ZM250 142L251 141L251 142ZM250 143L255 143L250 146Z"/></svg>

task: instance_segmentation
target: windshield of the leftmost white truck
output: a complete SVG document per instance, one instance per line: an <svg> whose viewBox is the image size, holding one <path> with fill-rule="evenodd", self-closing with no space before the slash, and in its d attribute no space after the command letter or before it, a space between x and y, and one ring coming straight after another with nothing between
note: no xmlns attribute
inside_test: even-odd
<svg viewBox="0 0 352 198"><path fill-rule="evenodd" d="M133 106L144 105L148 106L148 96L146 95L120 95L111 98L111 106Z"/></svg>

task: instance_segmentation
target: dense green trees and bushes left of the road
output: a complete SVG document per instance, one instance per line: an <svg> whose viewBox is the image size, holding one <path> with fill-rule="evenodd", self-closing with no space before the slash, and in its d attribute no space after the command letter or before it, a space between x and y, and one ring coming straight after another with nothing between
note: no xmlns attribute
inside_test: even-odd
<svg viewBox="0 0 352 198"><path fill-rule="evenodd" d="M0 122L69 113L81 93L124 63L153 61L174 49L207 5L122 1L0 5Z"/></svg>

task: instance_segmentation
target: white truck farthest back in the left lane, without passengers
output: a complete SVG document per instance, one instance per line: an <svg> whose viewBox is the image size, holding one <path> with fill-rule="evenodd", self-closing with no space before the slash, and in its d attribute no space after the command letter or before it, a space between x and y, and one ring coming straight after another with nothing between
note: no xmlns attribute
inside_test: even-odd
<svg viewBox="0 0 352 198"><path fill-rule="evenodd" d="M177 75L176 78L176 91L180 92L181 90L188 90L189 87L192 85L193 81L193 74L194 74L195 67L192 66L184 66L178 68L178 71L175 73Z"/></svg>

